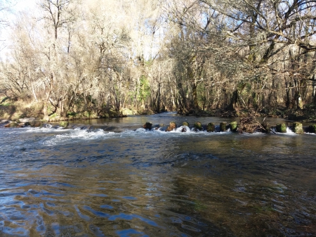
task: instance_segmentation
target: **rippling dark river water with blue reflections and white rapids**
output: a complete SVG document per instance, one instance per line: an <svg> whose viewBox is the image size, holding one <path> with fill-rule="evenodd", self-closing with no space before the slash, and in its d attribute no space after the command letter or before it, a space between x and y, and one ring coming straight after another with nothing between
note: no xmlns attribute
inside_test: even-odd
<svg viewBox="0 0 316 237"><path fill-rule="evenodd" d="M315 134L145 131L147 121L231 120L0 129L0 236L315 236Z"/></svg>

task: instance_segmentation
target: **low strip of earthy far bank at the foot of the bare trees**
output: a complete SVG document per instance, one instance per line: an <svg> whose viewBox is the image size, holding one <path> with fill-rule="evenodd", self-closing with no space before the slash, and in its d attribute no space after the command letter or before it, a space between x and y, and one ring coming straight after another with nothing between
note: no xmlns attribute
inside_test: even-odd
<svg viewBox="0 0 316 237"><path fill-rule="evenodd" d="M162 112L166 112L163 110ZM181 114L178 111L179 114ZM280 117L286 120L293 120L298 122L316 122L316 105L305 105L303 110L287 109L287 108L263 108L254 110L252 108L235 108L234 110L213 109L207 111L198 111L186 113L182 115L197 116L197 117L246 117L249 113L256 117ZM72 120L91 120L100 118L115 118L126 117L129 115L153 115L155 114L150 109L145 108L121 108L116 111L112 108L103 109L102 113L96 113L94 110L81 110L76 112L68 112L66 116L62 117L58 113L49 113L48 120L43 120L43 106L41 103L34 103L34 101L12 101L8 98L3 98L0 101L0 120L9 120L19 122L25 117L34 117L36 120L42 122L60 122Z"/></svg>

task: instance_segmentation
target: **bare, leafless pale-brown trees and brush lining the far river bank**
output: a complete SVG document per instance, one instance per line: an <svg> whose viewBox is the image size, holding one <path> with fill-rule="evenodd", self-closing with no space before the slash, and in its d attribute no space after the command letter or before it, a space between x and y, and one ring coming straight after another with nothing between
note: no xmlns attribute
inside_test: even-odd
<svg viewBox="0 0 316 237"><path fill-rule="evenodd" d="M315 15L306 0L40 0L1 18L0 96L30 99L21 115L46 120L304 114L316 103Z"/></svg>

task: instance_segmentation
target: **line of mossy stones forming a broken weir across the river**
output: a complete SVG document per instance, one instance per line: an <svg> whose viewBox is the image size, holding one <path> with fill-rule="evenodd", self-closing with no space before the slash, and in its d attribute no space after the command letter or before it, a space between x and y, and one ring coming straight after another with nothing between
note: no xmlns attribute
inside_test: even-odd
<svg viewBox="0 0 316 237"><path fill-rule="evenodd" d="M41 120L36 120L34 118L25 118L20 119L20 121L8 121L1 120L0 127L14 128L14 127L43 127L43 128L53 128L53 129L103 129L105 132L122 132L123 130L120 127L112 127L112 126L91 126L91 125L80 125L80 124L70 124L68 121L61 121L59 123L45 123ZM309 127L303 127L301 122L293 122L292 126L287 127L285 123L276 124L275 126L270 126L268 122L258 122L255 117L244 117L240 119L240 122L236 121L232 122L220 122L220 124L214 124L213 122L209 122L208 124L202 124L201 122L195 122L195 124L190 125L187 122L183 122L178 126L176 122L170 122L169 125L166 124L152 124L151 122L146 122L143 124L143 128L147 130L160 130L164 132L171 132L173 130L178 130L180 127L180 132L239 132L239 133L254 133L254 132L262 132L262 133L287 133L294 132L296 134L303 133L316 133L316 124L312 124Z"/></svg>

